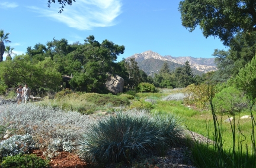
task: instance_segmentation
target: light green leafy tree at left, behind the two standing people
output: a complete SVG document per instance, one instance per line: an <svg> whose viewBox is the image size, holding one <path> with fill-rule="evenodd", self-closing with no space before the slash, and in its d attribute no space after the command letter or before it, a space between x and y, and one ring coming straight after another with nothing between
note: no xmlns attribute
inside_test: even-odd
<svg viewBox="0 0 256 168"><path fill-rule="evenodd" d="M35 94L42 88L56 90L62 80L55 69L55 63L48 57L33 63L28 55L18 55L12 60L2 62L0 70L2 84L17 87L20 83L28 83Z"/></svg>

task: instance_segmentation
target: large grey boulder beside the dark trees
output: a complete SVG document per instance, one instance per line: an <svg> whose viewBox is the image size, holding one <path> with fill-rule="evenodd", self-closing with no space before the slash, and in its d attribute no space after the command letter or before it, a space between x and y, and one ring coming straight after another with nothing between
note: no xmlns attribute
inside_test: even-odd
<svg viewBox="0 0 256 168"><path fill-rule="evenodd" d="M114 94L122 93L124 86L124 79L119 75L112 75L107 73L107 81L105 87Z"/></svg>

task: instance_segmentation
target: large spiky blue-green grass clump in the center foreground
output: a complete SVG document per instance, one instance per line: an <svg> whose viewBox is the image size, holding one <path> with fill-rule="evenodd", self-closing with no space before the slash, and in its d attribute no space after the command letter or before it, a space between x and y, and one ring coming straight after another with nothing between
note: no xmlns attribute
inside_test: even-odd
<svg viewBox="0 0 256 168"><path fill-rule="evenodd" d="M90 162L129 162L138 154L167 150L181 131L179 120L170 114L117 113L89 127L79 141L79 156Z"/></svg>

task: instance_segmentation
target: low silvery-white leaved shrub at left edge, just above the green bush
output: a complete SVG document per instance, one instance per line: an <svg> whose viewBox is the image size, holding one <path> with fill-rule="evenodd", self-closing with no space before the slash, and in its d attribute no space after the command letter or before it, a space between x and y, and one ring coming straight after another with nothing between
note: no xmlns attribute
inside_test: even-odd
<svg viewBox="0 0 256 168"><path fill-rule="evenodd" d="M34 148L34 140L31 135L11 136L0 143L0 158L5 156L14 156L16 154L28 153Z"/></svg>

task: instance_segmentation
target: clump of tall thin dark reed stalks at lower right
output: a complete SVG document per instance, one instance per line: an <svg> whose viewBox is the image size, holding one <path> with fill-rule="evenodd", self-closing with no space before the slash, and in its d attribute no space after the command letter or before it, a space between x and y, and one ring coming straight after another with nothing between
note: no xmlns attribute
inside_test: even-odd
<svg viewBox="0 0 256 168"><path fill-rule="evenodd" d="M208 96L209 96L209 103L210 103L210 107L211 107L211 111L212 111L212 116L213 116L213 124L214 124L214 150L217 154L216 157L216 167L220 167L220 168L224 168L224 167L244 167L247 168L248 167L248 163L249 163L249 167L256 167L256 146L255 146L255 131L254 131L254 127L256 125L255 120L254 120L254 116L252 114L252 107L255 104L255 99L249 98L250 99L250 103L249 103L249 108L250 108L250 113L251 113L251 124L252 124L252 132L251 132L251 154L252 157L250 157L249 159L249 154L248 154L248 144L245 144L245 153L242 150L242 142L245 141L246 137L244 136L244 134L242 134L240 125L239 125L239 120L238 120L238 124L237 124L237 129L238 129L238 150L236 150L236 127L235 127L235 115L233 116L233 120L231 122L231 117L228 116L229 118L229 122L231 124L231 130L232 130L232 149L230 149L228 152L225 151L223 149L223 144L224 144L224 140L223 140L223 136L222 136L222 118L220 118L220 123L218 121L217 115L215 113L215 106L213 104L213 95L214 95L214 90L213 90L213 86L209 86L208 87ZM244 137L243 140L240 139L240 136Z"/></svg>

